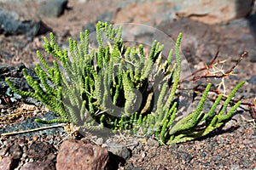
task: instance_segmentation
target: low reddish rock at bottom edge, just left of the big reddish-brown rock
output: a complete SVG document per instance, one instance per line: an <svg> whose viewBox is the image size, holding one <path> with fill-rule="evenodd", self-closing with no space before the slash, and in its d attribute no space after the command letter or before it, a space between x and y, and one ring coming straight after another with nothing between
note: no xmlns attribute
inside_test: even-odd
<svg viewBox="0 0 256 170"><path fill-rule="evenodd" d="M55 170L55 164L53 161L35 161L27 162L21 167L21 170Z"/></svg>

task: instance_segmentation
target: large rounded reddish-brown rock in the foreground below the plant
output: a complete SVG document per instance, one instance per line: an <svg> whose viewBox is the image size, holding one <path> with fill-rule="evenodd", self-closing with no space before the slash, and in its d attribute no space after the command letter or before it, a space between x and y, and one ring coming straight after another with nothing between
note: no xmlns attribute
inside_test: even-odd
<svg viewBox="0 0 256 170"><path fill-rule="evenodd" d="M106 148L69 139L61 144L56 169L110 169L108 160Z"/></svg>

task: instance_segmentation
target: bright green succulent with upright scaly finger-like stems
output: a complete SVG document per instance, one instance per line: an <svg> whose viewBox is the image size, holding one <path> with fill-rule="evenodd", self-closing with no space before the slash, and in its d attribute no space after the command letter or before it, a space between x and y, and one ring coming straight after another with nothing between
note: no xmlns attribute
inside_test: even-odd
<svg viewBox="0 0 256 170"><path fill-rule="evenodd" d="M226 111L230 99L244 82L237 84L224 104L218 95L212 108L203 113L203 107L210 91L207 85L196 111L175 122L177 102L175 94L181 74L179 54L182 34L177 37L176 64L171 63L173 49L166 60L161 52L164 45L154 41L149 54L143 45L126 47L121 38L122 28L99 22L96 25L98 48L89 47L89 31L80 33L80 43L69 39L69 52L61 49L52 33L50 41L44 38L44 48L61 64L53 61L49 66L38 51L40 65L36 65L40 83L33 80L23 69L28 84L34 92L24 92L15 88L6 79L16 94L29 96L41 101L59 119L36 120L36 122L68 122L88 131L124 132L139 135L154 135L162 144L181 143L198 139L230 120L237 102ZM108 45L103 43L108 38ZM218 111L218 105L221 109ZM200 127L199 127L200 125ZM202 126L203 125L203 126Z"/></svg>

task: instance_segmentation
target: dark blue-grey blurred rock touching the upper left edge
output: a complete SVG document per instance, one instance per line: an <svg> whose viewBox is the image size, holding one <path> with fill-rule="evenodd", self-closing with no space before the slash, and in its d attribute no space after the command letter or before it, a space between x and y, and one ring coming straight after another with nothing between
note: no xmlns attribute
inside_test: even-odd
<svg viewBox="0 0 256 170"><path fill-rule="evenodd" d="M49 31L39 18L20 16L15 11L7 11L0 8L0 33L6 36L26 34L27 36L36 36Z"/></svg>

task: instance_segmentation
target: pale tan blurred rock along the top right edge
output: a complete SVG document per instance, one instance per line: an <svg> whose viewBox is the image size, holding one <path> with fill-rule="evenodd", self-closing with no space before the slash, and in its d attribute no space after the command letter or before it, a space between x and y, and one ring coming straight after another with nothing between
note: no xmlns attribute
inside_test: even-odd
<svg viewBox="0 0 256 170"><path fill-rule="evenodd" d="M245 17L253 9L253 0L175 0L180 8L179 17L189 17L206 24L226 23L230 20Z"/></svg>

